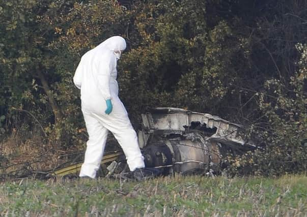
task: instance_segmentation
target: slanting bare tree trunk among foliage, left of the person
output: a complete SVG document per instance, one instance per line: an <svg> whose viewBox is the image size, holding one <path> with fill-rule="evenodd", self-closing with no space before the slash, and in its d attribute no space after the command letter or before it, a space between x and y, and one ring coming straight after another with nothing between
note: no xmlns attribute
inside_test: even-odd
<svg viewBox="0 0 307 217"><path fill-rule="evenodd" d="M49 104L52 108L53 114L54 114L54 123L55 125L62 119L62 114L61 114L61 110L57 104L57 102L55 102L54 98L53 98L53 94L49 88L48 82L45 79L44 74L40 71L37 70L37 75L39 77L39 79L42 82L43 85L43 89L46 92L46 95L48 97L49 100Z"/></svg>

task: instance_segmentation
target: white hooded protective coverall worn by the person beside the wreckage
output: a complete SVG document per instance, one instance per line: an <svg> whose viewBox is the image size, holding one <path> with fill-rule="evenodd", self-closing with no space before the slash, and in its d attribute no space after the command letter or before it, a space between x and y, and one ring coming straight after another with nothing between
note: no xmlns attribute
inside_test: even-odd
<svg viewBox="0 0 307 217"><path fill-rule="evenodd" d="M81 90L81 110L89 134L80 177L96 177L108 131L121 145L130 171L145 167L136 133L118 97L116 66L124 49L125 39L120 36L108 38L81 57L73 77L74 84ZM113 104L110 114L105 114L107 99Z"/></svg>

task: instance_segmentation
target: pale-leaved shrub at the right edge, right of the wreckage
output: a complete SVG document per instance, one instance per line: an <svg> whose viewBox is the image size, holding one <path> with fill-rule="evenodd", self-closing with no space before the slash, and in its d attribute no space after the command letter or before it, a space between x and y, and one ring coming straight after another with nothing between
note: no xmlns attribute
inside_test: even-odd
<svg viewBox="0 0 307 217"><path fill-rule="evenodd" d="M286 86L280 80L265 82L259 94L262 122L250 126L265 150L229 158L232 172L239 174L281 175L307 169L307 45L298 43L298 71ZM256 136L255 136L256 135Z"/></svg>

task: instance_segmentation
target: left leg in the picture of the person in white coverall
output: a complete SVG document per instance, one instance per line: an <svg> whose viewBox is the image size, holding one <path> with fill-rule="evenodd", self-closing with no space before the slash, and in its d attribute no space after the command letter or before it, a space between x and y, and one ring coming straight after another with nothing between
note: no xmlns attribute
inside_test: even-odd
<svg viewBox="0 0 307 217"><path fill-rule="evenodd" d="M95 178L100 167L108 130L93 116L83 112L89 140L85 152L84 163L81 166L80 177Z"/></svg>

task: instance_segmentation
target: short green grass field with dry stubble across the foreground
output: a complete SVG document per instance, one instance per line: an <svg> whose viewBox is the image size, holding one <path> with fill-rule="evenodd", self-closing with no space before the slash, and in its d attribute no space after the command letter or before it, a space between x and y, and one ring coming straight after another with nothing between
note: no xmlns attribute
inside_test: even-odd
<svg viewBox="0 0 307 217"><path fill-rule="evenodd" d="M23 179L0 185L0 216L307 216L307 176Z"/></svg>

